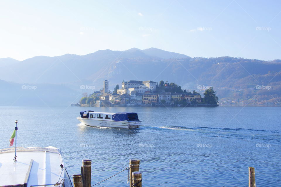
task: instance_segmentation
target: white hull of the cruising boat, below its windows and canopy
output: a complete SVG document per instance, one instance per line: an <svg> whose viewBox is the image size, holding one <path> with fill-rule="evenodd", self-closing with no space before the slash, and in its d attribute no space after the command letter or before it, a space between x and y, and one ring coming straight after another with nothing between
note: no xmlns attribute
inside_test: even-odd
<svg viewBox="0 0 281 187"><path fill-rule="evenodd" d="M136 129L140 127L141 121L109 121L109 120L93 120L87 118L77 117L77 119L90 127L115 127L115 128L124 128L124 129Z"/></svg>

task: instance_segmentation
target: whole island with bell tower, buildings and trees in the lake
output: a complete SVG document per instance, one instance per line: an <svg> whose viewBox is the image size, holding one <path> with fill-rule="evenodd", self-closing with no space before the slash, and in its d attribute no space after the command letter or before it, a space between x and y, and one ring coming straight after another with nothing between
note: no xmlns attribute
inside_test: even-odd
<svg viewBox="0 0 281 187"><path fill-rule="evenodd" d="M104 80L103 88L88 95L83 93L79 106L218 106L218 97L213 87L201 94L193 90L182 90L174 82L130 80L124 81L121 88L117 84L113 92L109 81Z"/></svg>

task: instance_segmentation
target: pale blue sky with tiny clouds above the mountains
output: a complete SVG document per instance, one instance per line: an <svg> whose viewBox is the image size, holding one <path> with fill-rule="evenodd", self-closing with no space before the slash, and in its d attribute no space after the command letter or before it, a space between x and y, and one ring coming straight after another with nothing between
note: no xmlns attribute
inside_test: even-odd
<svg viewBox="0 0 281 187"><path fill-rule="evenodd" d="M281 1L0 1L0 58L156 47L281 59Z"/></svg>

